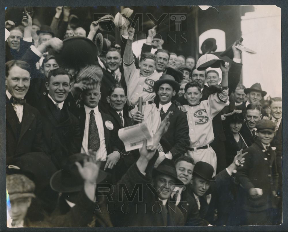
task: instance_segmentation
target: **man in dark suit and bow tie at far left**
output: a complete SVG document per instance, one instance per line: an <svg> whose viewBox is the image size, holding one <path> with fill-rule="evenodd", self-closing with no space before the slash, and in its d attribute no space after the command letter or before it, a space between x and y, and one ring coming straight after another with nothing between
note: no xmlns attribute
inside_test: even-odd
<svg viewBox="0 0 288 232"><path fill-rule="evenodd" d="M30 84L30 66L24 61L5 65L6 162L29 152L43 152L42 122L39 111L23 99Z"/></svg>

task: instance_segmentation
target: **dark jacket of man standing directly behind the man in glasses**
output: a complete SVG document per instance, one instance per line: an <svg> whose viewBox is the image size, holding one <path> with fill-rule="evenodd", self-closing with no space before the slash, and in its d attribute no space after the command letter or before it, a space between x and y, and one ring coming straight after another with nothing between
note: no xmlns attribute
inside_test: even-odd
<svg viewBox="0 0 288 232"><path fill-rule="evenodd" d="M125 89L125 92L127 93L127 86L126 86L126 82L125 82L125 77L124 77L124 70L122 68L122 66L119 67L120 68L120 72L121 72L121 79L120 79L120 84L122 85L122 87ZM106 114L108 114L108 110L110 108L110 103L108 103L107 101L107 96L108 96L108 92L109 89L112 85L116 84L114 77L111 75L111 73L102 68L103 71L103 78L102 78L102 82L101 82L101 99L99 101L99 108ZM124 105L124 111L127 110L127 103Z"/></svg>

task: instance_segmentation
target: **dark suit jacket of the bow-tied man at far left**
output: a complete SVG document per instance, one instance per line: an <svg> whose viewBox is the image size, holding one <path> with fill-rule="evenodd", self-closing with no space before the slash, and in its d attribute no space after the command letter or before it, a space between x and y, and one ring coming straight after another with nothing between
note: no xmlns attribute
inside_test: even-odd
<svg viewBox="0 0 288 232"><path fill-rule="evenodd" d="M43 152L42 120L37 109L24 104L21 126L16 112L6 96L6 159L7 164L21 154ZM20 130L17 130L19 128Z"/></svg>

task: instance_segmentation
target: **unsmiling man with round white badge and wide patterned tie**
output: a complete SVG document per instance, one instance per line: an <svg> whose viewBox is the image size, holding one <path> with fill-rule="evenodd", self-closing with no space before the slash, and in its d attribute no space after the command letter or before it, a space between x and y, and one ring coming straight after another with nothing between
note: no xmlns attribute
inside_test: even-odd
<svg viewBox="0 0 288 232"><path fill-rule="evenodd" d="M81 153L88 154L89 149L94 153L97 161L102 161L104 170L112 169L120 159L120 150L116 147L117 135L113 118L98 108L101 98L101 68L97 78L86 86L80 93L84 106L79 108L78 119L81 133ZM101 76L102 74L102 76Z"/></svg>

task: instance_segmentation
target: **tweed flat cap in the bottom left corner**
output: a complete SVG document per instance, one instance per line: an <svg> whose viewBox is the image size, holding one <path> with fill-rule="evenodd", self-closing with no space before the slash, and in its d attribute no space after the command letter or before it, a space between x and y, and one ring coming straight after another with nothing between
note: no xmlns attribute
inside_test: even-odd
<svg viewBox="0 0 288 232"><path fill-rule="evenodd" d="M10 201L17 198L35 197L34 182L22 174L7 175L6 189L8 191Z"/></svg>

